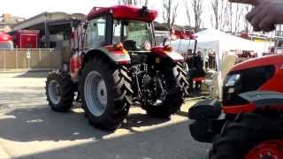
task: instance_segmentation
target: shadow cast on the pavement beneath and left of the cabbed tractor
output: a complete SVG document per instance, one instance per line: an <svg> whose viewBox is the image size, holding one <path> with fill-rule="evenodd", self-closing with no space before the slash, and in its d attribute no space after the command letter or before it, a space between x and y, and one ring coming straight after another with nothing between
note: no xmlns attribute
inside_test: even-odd
<svg viewBox="0 0 283 159"><path fill-rule="evenodd" d="M76 107L77 108L77 107ZM0 109L1 110L1 109ZM132 127L157 125L168 120L130 114L122 128L135 133ZM0 137L20 142L42 140L101 140L113 132L104 132L88 125L82 112L57 113L48 106L11 110L0 117Z"/></svg>

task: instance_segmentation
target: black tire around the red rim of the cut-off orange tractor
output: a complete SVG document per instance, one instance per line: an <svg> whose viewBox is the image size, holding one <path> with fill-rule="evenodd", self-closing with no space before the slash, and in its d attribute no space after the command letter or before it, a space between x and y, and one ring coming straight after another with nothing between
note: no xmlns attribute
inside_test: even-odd
<svg viewBox="0 0 283 159"><path fill-rule="evenodd" d="M276 117L244 114L235 121L227 123L222 133L215 137L209 158L244 159L257 144L266 140L283 139L282 131L274 132L273 127L280 127L281 124L281 119Z"/></svg>

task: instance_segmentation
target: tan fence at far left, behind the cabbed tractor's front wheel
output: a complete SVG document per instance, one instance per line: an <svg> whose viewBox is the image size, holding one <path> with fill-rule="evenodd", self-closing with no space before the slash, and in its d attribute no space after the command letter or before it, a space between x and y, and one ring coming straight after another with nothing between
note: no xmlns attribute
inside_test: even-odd
<svg viewBox="0 0 283 159"><path fill-rule="evenodd" d="M41 70L61 66L55 49L0 49L0 70Z"/></svg>

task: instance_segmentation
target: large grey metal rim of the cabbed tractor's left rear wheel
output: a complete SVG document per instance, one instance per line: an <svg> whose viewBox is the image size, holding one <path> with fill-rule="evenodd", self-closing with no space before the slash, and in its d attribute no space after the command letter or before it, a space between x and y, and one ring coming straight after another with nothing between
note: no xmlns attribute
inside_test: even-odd
<svg viewBox="0 0 283 159"><path fill-rule="evenodd" d="M84 86L85 102L88 110L99 117L106 110L107 87L99 72L89 72Z"/></svg>

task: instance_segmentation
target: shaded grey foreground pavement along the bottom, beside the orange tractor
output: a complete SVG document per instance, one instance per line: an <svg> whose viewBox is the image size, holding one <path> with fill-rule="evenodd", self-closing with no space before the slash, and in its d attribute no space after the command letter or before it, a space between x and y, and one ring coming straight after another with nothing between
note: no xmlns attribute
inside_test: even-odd
<svg viewBox="0 0 283 159"><path fill-rule="evenodd" d="M178 130L178 131L177 131ZM69 148L60 148L19 159L203 159L209 144L193 140L187 122L168 125L142 133L132 133L108 140L91 141Z"/></svg>

